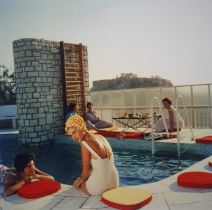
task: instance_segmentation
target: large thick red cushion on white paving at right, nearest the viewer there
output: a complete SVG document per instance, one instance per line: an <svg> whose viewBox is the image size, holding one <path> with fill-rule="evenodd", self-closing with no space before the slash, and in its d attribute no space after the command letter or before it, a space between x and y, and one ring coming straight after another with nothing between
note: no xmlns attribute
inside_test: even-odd
<svg viewBox="0 0 212 210"><path fill-rule="evenodd" d="M212 173L185 172L177 177L177 183L188 188L212 188Z"/></svg>

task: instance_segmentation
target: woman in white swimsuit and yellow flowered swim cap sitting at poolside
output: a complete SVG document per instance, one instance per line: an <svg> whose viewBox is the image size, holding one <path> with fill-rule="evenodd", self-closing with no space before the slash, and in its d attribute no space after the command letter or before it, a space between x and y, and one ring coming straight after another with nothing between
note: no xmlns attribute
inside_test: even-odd
<svg viewBox="0 0 212 210"><path fill-rule="evenodd" d="M118 187L119 174L107 140L101 135L89 133L79 115L68 119L66 132L81 146L82 175L75 180L74 186L88 195L101 195Z"/></svg>

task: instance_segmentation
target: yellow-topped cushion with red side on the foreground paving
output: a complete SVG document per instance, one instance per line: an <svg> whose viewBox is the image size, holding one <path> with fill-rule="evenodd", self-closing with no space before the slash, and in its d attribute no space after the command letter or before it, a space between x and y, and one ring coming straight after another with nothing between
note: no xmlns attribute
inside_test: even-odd
<svg viewBox="0 0 212 210"><path fill-rule="evenodd" d="M102 194L101 201L123 210L138 209L152 200L152 194L142 189L119 187Z"/></svg>

